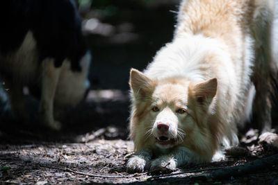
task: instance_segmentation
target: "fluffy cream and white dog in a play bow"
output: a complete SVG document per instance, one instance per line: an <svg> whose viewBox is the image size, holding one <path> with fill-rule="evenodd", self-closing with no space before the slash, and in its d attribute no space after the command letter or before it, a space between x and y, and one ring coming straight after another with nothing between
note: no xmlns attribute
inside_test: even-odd
<svg viewBox="0 0 278 185"><path fill-rule="evenodd" d="M212 160L253 116L271 128L275 1L183 0L172 42L131 69L131 173Z"/></svg>

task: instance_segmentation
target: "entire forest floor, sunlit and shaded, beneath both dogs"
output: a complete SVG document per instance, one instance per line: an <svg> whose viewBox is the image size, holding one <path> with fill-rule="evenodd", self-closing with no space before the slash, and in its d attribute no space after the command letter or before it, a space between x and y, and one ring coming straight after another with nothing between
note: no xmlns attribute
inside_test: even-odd
<svg viewBox="0 0 278 185"><path fill-rule="evenodd" d="M108 91L102 91L99 102L92 102L96 91L90 93L87 103L67 112L60 132L1 119L0 184L278 184L277 161L244 168L277 152L259 144L258 131L252 129L241 136L239 152L220 161L183 166L167 177L159 171L126 173L125 163L133 154L126 132L127 95L110 91L111 102L104 100ZM242 173L204 176L234 166Z"/></svg>

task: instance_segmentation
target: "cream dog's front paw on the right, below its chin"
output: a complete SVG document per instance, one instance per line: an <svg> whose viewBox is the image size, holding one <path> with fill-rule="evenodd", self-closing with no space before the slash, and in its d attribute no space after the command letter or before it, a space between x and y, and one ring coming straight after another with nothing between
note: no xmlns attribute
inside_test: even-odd
<svg viewBox="0 0 278 185"><path fill-rule="evenodd" d="M173 157L163 156L152 161L149 168L150 172L167 171L171 172L177 169L177 162Z"/></svg>

